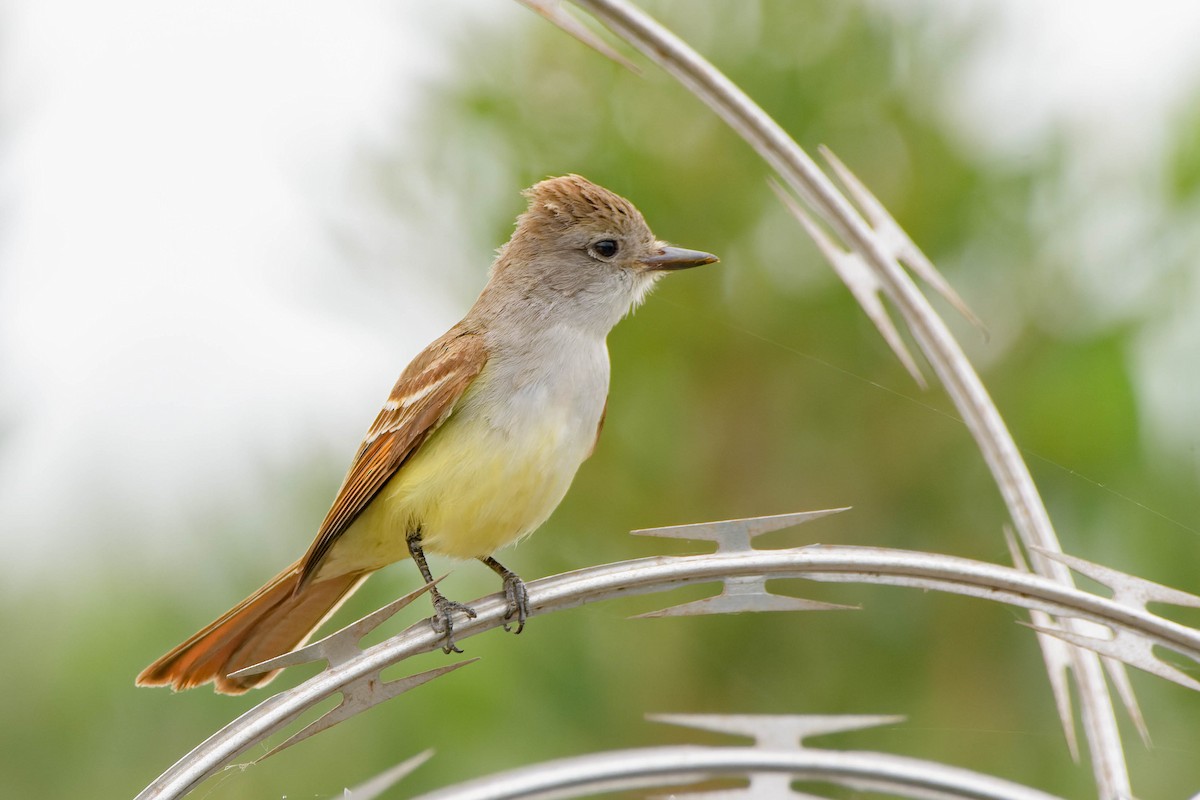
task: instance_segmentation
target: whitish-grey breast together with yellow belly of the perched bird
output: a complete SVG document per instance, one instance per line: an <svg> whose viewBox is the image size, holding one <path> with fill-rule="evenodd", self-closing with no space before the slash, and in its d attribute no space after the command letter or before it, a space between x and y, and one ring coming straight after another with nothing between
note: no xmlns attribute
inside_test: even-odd
<svg viewBox="0 0 1200 800"><path fill-rule="evenodd" d="M355 521L355 559L404 558L415 528L427 552L480 558L541 525L595 444L608 390L604 342L575 344L493 354Z"/></svg>

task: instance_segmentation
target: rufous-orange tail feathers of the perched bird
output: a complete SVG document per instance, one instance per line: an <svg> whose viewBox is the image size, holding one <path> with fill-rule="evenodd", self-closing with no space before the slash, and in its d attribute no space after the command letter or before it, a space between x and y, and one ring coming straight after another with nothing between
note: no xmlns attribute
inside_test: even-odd
<svg viewBox="0 0 1200 800"><path fill-rule="evenodd" d="M138 686L170 686L175 691L215 682L222 694L241 694L262 686L276 672L229 678L229 673L294 650L337 610L370 572L300 583L296 561L270 583L226 612L218 620L155 661L138 675Z"/></svg>

